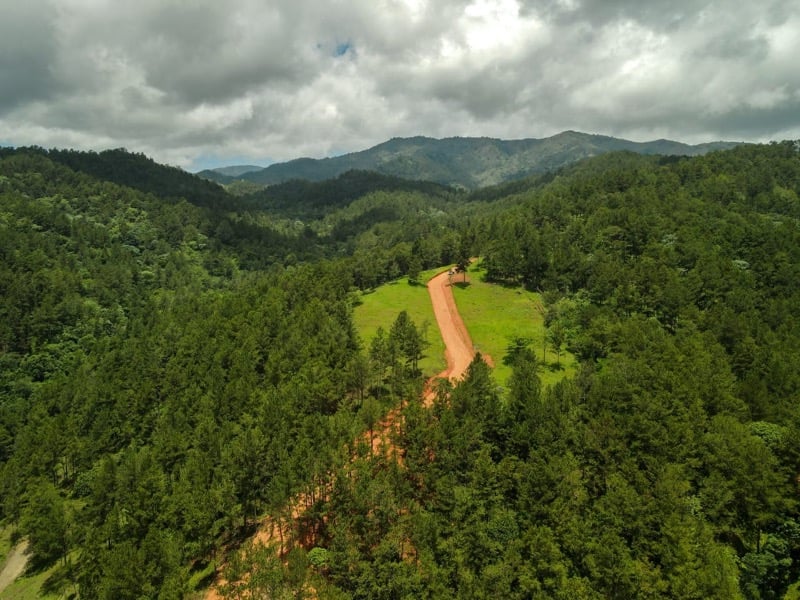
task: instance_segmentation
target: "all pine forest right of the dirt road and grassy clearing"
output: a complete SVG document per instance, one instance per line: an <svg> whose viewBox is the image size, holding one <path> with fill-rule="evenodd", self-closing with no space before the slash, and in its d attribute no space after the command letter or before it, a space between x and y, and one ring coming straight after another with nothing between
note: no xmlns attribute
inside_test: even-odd
<svg viewBox="0 0 800 600"><path fill-rule="evenodd" d="M508 390L476 359L432 409L410 402L400 458L365 454L335 472L307 513L313 544L286 565L243 556L244 571L271 574L247 580L251 592L796 589L798 193L798 147L782 143L601 157L500 209L473 207L461 239L487 278L543 292L579 374L543 390L532 349L511 340Z"/></svg>

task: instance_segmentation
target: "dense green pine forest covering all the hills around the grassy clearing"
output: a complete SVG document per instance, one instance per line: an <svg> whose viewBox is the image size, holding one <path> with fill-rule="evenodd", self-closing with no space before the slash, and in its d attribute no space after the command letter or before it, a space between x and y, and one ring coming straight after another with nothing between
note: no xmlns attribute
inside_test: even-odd
<svg viewBox="0 0 800 600"><path fill-rule="evenodd" d="M0 149L0 520L43 593L800 593L798 143L237 191ZM474 256L580 368L510 340L507 389L478 356L424 408L417 325L353 307ZM294 539L251 545L265 515Z"/></svg>

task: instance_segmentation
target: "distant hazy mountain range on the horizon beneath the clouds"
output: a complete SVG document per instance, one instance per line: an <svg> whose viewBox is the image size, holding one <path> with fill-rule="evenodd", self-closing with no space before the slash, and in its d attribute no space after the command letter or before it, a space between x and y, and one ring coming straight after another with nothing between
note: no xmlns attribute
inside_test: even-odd
<svg viewBox="0 0 800 600"><path fill-rule="evenodd" d="M522 140L393 138L368 150L333 158L298 158L263 169L224 167L201 171L198 175L222 184L244 180L267 186L294 179L322 181L358 169L475 189L552 171L606 152L627 150L638 154L695 156L737 145L738 142L696 146L670 140L632 142L576 131Z"/></svg>

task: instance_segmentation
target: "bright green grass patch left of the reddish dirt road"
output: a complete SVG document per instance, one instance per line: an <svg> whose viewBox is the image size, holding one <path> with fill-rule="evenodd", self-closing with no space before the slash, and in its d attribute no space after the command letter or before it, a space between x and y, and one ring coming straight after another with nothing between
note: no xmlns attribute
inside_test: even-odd
<svg viewBox="0 0 800 600"><path fill-rule="evenodd" d="M441 269L423 271L419 280L427 282ZM376 290L359 295L361 304L355 307L354 320L364 346L368 349L378 327L387 332L400 311L405 310L420 328L430 344L419 366L425 375L441 373L447 362L444 358L444 342L436 326L431 298L424 283L409 284L405 277L380 286Z"/></svg>

